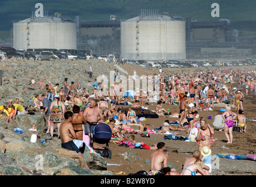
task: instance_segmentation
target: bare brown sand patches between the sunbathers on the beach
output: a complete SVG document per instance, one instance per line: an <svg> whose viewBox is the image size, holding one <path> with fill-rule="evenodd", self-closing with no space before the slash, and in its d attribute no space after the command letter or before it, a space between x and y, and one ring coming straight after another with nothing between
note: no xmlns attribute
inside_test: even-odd
<svg viewBox="0 0 256 187"><path fill-rule="evenodd" d="M132 68L131 70L132 71ZM129 71L128 71L129 72ZM129 73L130 74L130 73ZM234 86L238 86L233 84ZM237 87L238 88L238 87ZM245 90L242 89L245 93ZM233 103L233 98L230 98L231 103ZM153 104L153 105L151 105ZM250 151L256 153L256 122L252 122L252 119L256 119L255 116L255 104L256 98L255 93L249 91L248 96L245 95L244 98L244 115L247 117L247 131L248 133L240 133L239 131L233 131L233 144L227 144L227 139L224 135L224 131L214 131L213 137L217 138L213 143L212 147L212 162L215 162L215 169L211 175L255 175L256 174L256 162L252 160L230 160L228 158L219 158L216 154L219 153L229 153L229 154L248 154ZM117 105L117 108L123 105ZM149 110L156 110L156 103L149 103ZM123 106L126 108L127 106ZM169 109L170 112L179 112L178 106L163 104L164 109ZM223 108L223 107L222 107ZM198 114L207 119L207 123L210 126L213 125L214 116L217 115L218 110L221 107L214 107L213 111L200 111ZM234 111L234 108L232 108ZM211 119L208 119L208 116L212 116ZM164 117L159 116L157 119L147 118L146 122L148 123L151 130L156 129L163 125L165 120L173 122L174 120L179 120L175 117ZM174 125L175 127L175 125ZM134 129L139 130L138 127L133 126ZM180 136L187 137L186 131L172 131L174 133L180 133ZM126 134L129 136L129 134ZM198 150L198 144L193 142L186 142L182 140L164 140L164 134L150 134L150 137L141 137L139 134L135 134L136 141L143 141L148 146L156 145L160 141L166 143L166 148L169 151L168 162L177 167L177 172L181 173L182 165L186 158L192 157L193 151ZM113 140L119 141L119 140ZM112 159L107 159L109 164L118 164L118 165L109 165L107 170L114 172L115 175L128 175L134 174L140 170L145 170L149 172L150 164L145 162L150 160L150 154L154 150L144 150L138 148L127 148L120 147L119 144L110 143L110 150L112 151ZM178 153L172 153L171 151L177 150ZM133 152L130 152L133 151ZM128 154L128 155L127 155ZM127 156L126 156L127 155ZM129 158L127 158L129 157ZM215 159L214 159L215 158ZM122 164L122 165L119 165Z"/></svg>

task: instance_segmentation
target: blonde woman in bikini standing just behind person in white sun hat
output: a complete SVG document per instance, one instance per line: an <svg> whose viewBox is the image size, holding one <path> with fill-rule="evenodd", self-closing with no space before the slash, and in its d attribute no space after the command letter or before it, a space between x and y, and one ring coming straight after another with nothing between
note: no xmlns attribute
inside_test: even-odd
<svg viewBox="0 0 256 187"><path fill-rule="evenodd" d="M214 129L206 123L205 119L201 120L200 126L201 127L198 130L196 140L199 141L198 151L201 153L203 147L207 146L208 148L211 148L211 143L213 143L211 136L214 134ZM202 158L203 155L201 154L200 159Z"/></svg>

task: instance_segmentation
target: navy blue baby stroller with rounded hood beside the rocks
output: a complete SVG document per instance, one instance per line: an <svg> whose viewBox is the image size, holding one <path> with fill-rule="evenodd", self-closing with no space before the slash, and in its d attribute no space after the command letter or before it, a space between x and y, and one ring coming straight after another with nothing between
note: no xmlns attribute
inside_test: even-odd
<svg viewBox="0 0 256 187"><path fill-rule="evenodd" d="M97 153L104 158L111 159L112 151L109 149L109 141L112 137L112 130L108 124L97 123L93 130L93 137L90 137L90 147L93 147L93 143L106 144L104 149L94 149Z"/></svg>

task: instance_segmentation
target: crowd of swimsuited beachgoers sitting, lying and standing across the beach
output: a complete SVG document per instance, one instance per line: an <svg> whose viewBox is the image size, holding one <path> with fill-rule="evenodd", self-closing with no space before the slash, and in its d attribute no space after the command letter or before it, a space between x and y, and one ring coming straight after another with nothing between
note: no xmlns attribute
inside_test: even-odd
<svg viewBox="0 0 256 187"><path fill-rule="evenodd" d="M118 74L115 74L116 80ZM147 76L146 76L147 77ZM90 78L92 75L90 74ZM233 88L234 80L238 79L238 89ZM134 108L143 108L149 102L156 103L156 113L159 116L179 118L177 127L165 123L160 133L167 133L171 130L187 131L190 140L198 141L198 150L194 152L193 158L184 163L181 174L173 168L167 167L167 155L164 143L157 144L157 150L151 154L150 170L160 172L164 175L208 175L211 172L209 163L211 161L211 144L213 144L214 130L224 130L227 143L233 142L234 119L237 119L237 126L247 133L245 116L243 111L245 88L246 95L255 93L255 72L251 70L188 70L186 74L179 71L167 73L163 71L153 72L153 91L159 91L159 98L155 101L149 92L137 91L133 96L124 97L123 84L117 85L114 82L110 89L103 89L102 82L93 82L93 98L89 91L81 87L79 80L68 83L68 78L63 81L63 87L59 84L52 84L48 81L45 87L38 79L32 80L32 85L38 84L45 94L37 94L33 98L33 108L42 112L45 116L49 139L53 138L54 127L58 127L58 138L62 141L62 147L74 150L79 158L83 158L78 146L73 143L73 139L83 140L83 135L92 137L93 129L97 123L109 124L112 135L123 137L124 134L134 134L138 131L132 126L138 126L143 131L143 119L137 117ZM159 81L159 82L157 82ZM159 83L159 84L157 84ZM159 86L159 87L158 87ZM250 86L250 92L249 92ZM116 90L122 94L117 96ZM99 92L102 92L99 94ZM233 101L232 101L233 99ZM122 102L130 102L127 110L118 108ZM163 103L178 105L179 112L171 113L163 108ZM219 112L214 118L211 126L206 119L200 118L199 111L213 110L215 103L224 103L226 110ZM230 103L235 105L232 111ZM238 112L238 113L236 113ZM24 115L25 107L19 103L19 99L10 100L6 105L0 106L0 119L6 114L6 121L12 123L16 115ZM184 127L184 122L188 123L188 129ZM35 129L35 128L34 128ZM89 140L91 142L92 140ZM97 148L97 145L93 145ZM95 148L93 147L93 148ZM163 164L163 168L161 166ZM86 165L86 168L87 167Z"/></svg>

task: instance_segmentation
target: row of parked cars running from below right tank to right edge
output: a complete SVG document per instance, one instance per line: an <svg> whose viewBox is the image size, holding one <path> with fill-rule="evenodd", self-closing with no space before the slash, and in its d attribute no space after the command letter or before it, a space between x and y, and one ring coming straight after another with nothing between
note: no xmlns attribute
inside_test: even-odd
<svg viewBox="0 0 256 187"><path fill-rule="evenodd" d="M145 61L145 60L125 60L126 64L142 65L145 68L197 68L197 67L230 67L230 66L246 66L255 65L252 61L231 61L231 62L209 62L209 61L178 61L178 60L168 60L168 61Z"/></svg>

